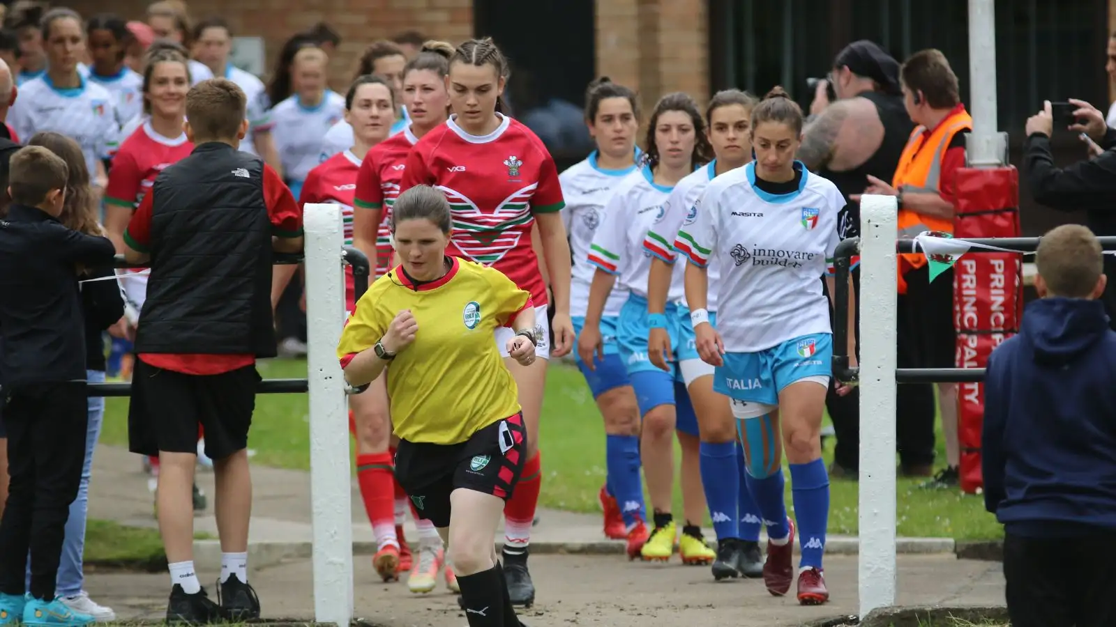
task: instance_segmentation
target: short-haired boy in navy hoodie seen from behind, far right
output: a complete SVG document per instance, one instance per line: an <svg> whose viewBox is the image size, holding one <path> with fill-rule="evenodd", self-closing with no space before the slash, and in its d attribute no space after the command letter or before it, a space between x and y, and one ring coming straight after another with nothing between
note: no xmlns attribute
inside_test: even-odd
<svg viewBox="0 0 1116 627"><path fill-rule="evenodd" d="M1077 224L1038 248L1039 300L989 357L984 503L1004 525L1014 627L1116 625L1116 332L1103 252Z"/></svg>

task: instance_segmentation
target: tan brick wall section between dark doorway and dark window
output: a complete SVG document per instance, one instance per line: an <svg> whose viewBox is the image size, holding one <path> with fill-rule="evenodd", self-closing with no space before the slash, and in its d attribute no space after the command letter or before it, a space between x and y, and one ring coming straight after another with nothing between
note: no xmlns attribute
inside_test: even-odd
<svg viewBox="0 0 1116 627"><path fill-rule="evenodd" d="M597 74L637 89L644 112L670 91L686 91L704 106L705 0L597 0L596 26Z"/></svg>

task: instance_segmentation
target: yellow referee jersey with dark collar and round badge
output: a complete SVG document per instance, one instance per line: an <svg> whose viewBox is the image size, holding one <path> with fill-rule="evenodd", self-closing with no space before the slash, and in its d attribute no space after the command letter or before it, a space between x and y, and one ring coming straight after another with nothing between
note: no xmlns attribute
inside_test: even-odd
<svg viewBox="0 0 1116 627"><path fill-rule="evenodd" d="M372 348L410 309L415 339L387 367L392 426L408 442L456 444L519 412L516 380L492 338L532 307L528 292L499 270L451 257L444 277L415 288L396 267L377 279L345 325L345 365Z"/></svg>

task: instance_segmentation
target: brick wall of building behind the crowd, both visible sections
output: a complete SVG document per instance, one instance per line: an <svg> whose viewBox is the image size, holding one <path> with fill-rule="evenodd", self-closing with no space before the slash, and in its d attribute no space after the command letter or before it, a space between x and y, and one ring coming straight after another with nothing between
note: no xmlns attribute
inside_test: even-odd
<svg viewBox="0 0 1116 627"><path fill-rule="evenodd" d="M638 89L644 110L651 110L668 91L687 91L703 104L709 96L705 2L597 0L597 74ZM142 19L148 0L59 3L84 16L113 11ZM327 21L343 38L331 65L338 89L352 76L364 47L375 39L410 29L453 44L473 36L472 0L190 0L189 6L194 20L220 15L235 35L262 36L268 67L288 37L319 20Z"/></svg>

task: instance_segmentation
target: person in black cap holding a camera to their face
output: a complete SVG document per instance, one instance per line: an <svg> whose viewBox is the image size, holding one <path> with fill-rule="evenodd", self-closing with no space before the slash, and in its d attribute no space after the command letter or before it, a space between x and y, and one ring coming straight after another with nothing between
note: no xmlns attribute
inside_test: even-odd
<svg viewBox="0 0 1116 627"><path fill-rule="evenodd" d="M829 102L827 85L837 100ZM833 181L848 204L838 216L841 238L859 234L860 205L849 199L864 192L869 176L891 181L914 123L903 106L899 64L872 41L854 41L834 59L827 80L819 81L812 120L804 131L798 158L807 167ZM854 268L853 286L859 292L860 273ZM859 296L859 293L858 293ZM857 298L857 346L859 346ZM899 386L899 394L903 394ZM859 469L859 392L838 396L829 388L826 406L833 419L837 446L830 476L856 479ZM899 403L899 406L904 406Z"/></svg>

